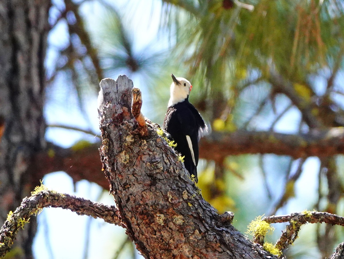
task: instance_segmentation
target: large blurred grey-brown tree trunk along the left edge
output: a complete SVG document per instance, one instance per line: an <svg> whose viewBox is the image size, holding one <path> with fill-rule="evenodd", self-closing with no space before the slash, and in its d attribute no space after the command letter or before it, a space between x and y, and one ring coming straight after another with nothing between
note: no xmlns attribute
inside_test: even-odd
<svg viewBox="0 0 344 259"><path fill-rule="evenodd" d="M32 160L45 146L44 58L49 0L0 2L0 217L4 222L36 184ZM35 217L17 236L9 258L33 258Z"/></svg>

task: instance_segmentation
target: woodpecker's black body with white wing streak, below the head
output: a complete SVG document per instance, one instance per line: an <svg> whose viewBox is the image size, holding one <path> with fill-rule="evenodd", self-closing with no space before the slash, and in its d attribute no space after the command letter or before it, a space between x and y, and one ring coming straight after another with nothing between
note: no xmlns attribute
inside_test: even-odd
<svg viewBox="0 0 344 259"><path fill-rule="evenodd" d="M192 174L195 176L197 182L198 140L207 131L207 126L200 113L189 102L188 97L168 108L163 128L177 144L175 150L185 156L185 168L189 171L190 176ZM190 136L194 159L186 136Z"/></svg>

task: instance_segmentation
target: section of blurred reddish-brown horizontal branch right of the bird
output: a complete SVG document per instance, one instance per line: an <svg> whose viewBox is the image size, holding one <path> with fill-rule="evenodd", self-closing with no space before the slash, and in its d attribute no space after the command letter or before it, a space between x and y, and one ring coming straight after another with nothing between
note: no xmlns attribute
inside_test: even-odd
<svg viewBox="0 0 344 259"><path fill-rule="evenodd" d="M293 158L327 157L344 153L344 128L311 130L307 134L283 134L239 130L213 132L200 141L200 157L221 161L229 155L276 154Z"/></svg>

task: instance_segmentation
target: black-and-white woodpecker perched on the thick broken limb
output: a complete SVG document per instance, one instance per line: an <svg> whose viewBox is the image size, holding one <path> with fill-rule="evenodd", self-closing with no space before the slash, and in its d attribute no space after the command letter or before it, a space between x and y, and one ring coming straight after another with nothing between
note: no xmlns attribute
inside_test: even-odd
<svg viewBox="0 0 344 259"><path fill-rule="evenodd" d="M196 183L198 165L198 141L208 133L208 127L201 114L189 102L191 83L182 77L172 76L170 100L163 129L177 144L175 150L184 156L184 166Z"/></svg>

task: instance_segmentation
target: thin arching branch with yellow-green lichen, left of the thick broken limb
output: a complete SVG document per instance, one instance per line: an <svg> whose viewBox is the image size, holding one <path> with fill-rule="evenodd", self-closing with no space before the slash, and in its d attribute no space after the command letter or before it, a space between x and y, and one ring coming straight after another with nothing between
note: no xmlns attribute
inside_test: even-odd
<svg viewBox="0 0 344 259"><path fill-rule="evenodd" d="M30 216L37 215L44 207L69 209L78 215L103 218L105 222L125 227L115 206L108 206L66 193L43 190L31 197L25 197L21 205L9 213L0 230L0 257L11 248L18 230L28 223Z"/></svg>

